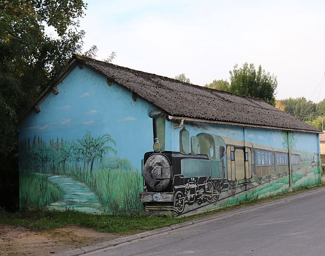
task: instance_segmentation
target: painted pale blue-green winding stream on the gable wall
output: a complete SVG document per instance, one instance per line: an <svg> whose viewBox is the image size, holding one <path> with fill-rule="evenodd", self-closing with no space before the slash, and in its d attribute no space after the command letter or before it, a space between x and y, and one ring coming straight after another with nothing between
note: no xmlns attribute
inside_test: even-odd
<svg viewBox="0 0 325 256"><path fill-rule="evenodd" d="M103 213L98 196L89 185L62 175L50 176L48 179L59 184L64 191L62 199L48 205L49 209L73 208L88 213Z"/></svg>

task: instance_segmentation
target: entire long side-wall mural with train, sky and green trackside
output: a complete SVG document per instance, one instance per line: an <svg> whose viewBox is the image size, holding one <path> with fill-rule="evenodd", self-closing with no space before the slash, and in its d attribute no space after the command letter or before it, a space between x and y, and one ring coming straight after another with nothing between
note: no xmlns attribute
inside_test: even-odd
<svg viewBox="0 0 325 256"><path fill-rule="evenodd" d="M317 147L310 142L312 148L298 149L293 132L268 134L246 128L250 134L245 138L243 127L228 132L222 126L217 131L217 125L184 124L176 127L179 147L171 150L164 146L165 117L154 117L153 123L154 152L144 155L144 192L140 193L149 212L184 215L284 193L290 171L293 189L320 182L318 154L311 151L317 152ZM300 144L306 142L303 134L298 136ZM265 137L269 137L266 144L257 143Z"/></svg>

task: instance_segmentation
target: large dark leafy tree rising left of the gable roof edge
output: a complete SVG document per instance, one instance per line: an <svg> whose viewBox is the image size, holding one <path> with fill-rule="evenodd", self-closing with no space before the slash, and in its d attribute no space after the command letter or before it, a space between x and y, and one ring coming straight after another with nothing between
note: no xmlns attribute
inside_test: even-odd
<svg viewBox="0 0 325 256"><path fill-rule="evenodd" d="M16 146L17 119L60 74L73 53L81 53L82 0L0 0L0 154ZM45 32L52 27L58 38Z"/></svg>

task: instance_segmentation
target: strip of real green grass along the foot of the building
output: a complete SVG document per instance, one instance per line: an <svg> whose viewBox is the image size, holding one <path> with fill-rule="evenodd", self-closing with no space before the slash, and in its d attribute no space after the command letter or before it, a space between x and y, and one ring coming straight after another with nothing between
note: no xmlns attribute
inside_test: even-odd
<svg viewBox="0 0 325 256"><path fill-rule="evenodd" d="M198 219L205 216L218 214L219 212L238 209L245 206L271 201L295 194L302 193L307 190L322 187L323 184L302 188L291 193L270 196L263 199L253 199L248 202L242 202L236 205L219 208L205 212L199 215L188 217L159 217L148 215L93 215L85 212L76 211L66 208L65 210L38 210L38 211L20 211L15 213L5 212L0 208L0 224L12 224L16 226L25 226L31 230L50 230L64 226L74 225L82 227L90 227L97 231L109 232L116 234L134 234L160 227L170 226L185 222L188 220Z"/></svg>

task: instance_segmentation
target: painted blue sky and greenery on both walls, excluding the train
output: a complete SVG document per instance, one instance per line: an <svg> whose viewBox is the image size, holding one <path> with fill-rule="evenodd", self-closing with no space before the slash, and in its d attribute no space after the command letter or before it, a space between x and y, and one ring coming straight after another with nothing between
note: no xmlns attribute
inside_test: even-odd
<svg viewBox="0 0 325 256"><path fill-rule="evenodd" d="M59 84L59 94L50 93L39 103L41 111L30 112L19 129L21 208L65 209L86 212L141 212L143 191L141 162L153 151L153 104L85 66L74 68ZM230 125L166 120L166 151L180 152L180 131L231 138L237 143L255 143L288 152L287 133ZM290 133L291 151L301 157L293 173L293 188L320 182L318 134ZM315 158L316 156L316 158ZM312 161L316 160L312 165ZM229 167L229 165L228 165ZM232 182L220 199L185 205L197 212L288 190L288 174L272 174L248 182Z"/></svg>

